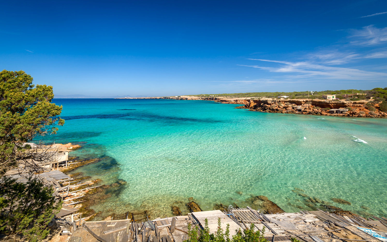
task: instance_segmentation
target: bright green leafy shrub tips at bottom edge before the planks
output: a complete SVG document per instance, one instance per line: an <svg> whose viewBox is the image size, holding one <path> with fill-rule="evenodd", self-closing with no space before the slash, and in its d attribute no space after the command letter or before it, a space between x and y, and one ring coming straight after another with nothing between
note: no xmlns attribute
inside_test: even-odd
<svg viewBox="0 0 387 242"><path fill-rule="evenodd" d="M192 225L188 224L188 240L185 242L267 242L264 237L265 228L262 229L262 233L257 230L254 232L255 226L250 225L250 228L236 231L236 235L230 239L230 225L227 224L226 231L223 232L221 228L221 219L218 218L218 227L215 233L210 234L210 229L208 227L207 218L204 220L204 230L200 232L200 237L198 237L198 227L195 226L192 228Z"/></svg>

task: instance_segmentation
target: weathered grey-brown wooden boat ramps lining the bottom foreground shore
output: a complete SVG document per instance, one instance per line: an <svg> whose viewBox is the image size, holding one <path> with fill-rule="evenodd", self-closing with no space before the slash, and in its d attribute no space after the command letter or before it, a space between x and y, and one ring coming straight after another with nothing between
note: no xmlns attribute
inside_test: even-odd
<svg viewBox="0 0 387 242"><path fill-rule="evenodd" d="M299 213L262 214L252 208L228 211L201 211L187 216L111 221L82 221L72 232L70 242L182 242L188 239L188 223L204 227L207 218L211 233L216 232L217 219L230 235L238 229L253 225L255 231L264 230L268 241L290 242L294 237L301 242L387 242L387 219L365 219L351 213L300 211Z"/></svg>

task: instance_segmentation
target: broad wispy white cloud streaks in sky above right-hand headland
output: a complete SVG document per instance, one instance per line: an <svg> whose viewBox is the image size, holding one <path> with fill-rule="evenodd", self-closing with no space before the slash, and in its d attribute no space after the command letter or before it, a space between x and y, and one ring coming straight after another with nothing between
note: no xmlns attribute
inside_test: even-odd
<svg viewBox="0 0 387 242"><path fill-rule="evenodd" d="M260 69L260 74L269 78L275 75L273 78L282 83L385 81L387 63L382 58L387 58L387 27L370 25L347 31L348 39L313 52L293 55L288 58L290 61L248 58L247 60L259 63L244 63L239 66ZM379 60L370 62L370 59Z"/></svg>

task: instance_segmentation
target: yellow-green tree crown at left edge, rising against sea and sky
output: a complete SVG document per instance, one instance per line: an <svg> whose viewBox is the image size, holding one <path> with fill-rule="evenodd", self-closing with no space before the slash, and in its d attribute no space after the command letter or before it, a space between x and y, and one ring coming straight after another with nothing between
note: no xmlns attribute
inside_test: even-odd
<svg viewBox="0 0 387 242"><path fill-rule="evenodd" d="M24 71L0 72L0 175L16 166L22 143L35 136L55 134L64 120L57 117L62 106L51 103L52 86L32 84Z"/></svg>

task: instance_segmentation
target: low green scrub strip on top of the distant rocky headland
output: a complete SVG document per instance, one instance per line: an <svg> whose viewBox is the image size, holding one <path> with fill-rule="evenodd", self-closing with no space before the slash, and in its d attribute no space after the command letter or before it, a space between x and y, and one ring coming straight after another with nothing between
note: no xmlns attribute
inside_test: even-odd
<svg viewBox="0 0 387 242"><path fill-rule="evenodd" d="M308 94L309 93L309 94ZM278 96L289 96L289 99L321 99L323 94L336 94L337 98L344 98L345 94L356 94L362 93L358 96L358 99L365 99L365 96L372 96L378 99L387 98L387 88L374 88L371 90L357 90L357 89L348 89L348 90L325 90L325 91L314 91L313 95L310 91L301 91L301 92L257 92L257 93L221 93L221 94L197 94L190 96L198 97L210 97L210 96L219 96L219 97L228 97L228 98L277 98ZM364 95L364 94L365 95Z"/></svg>

